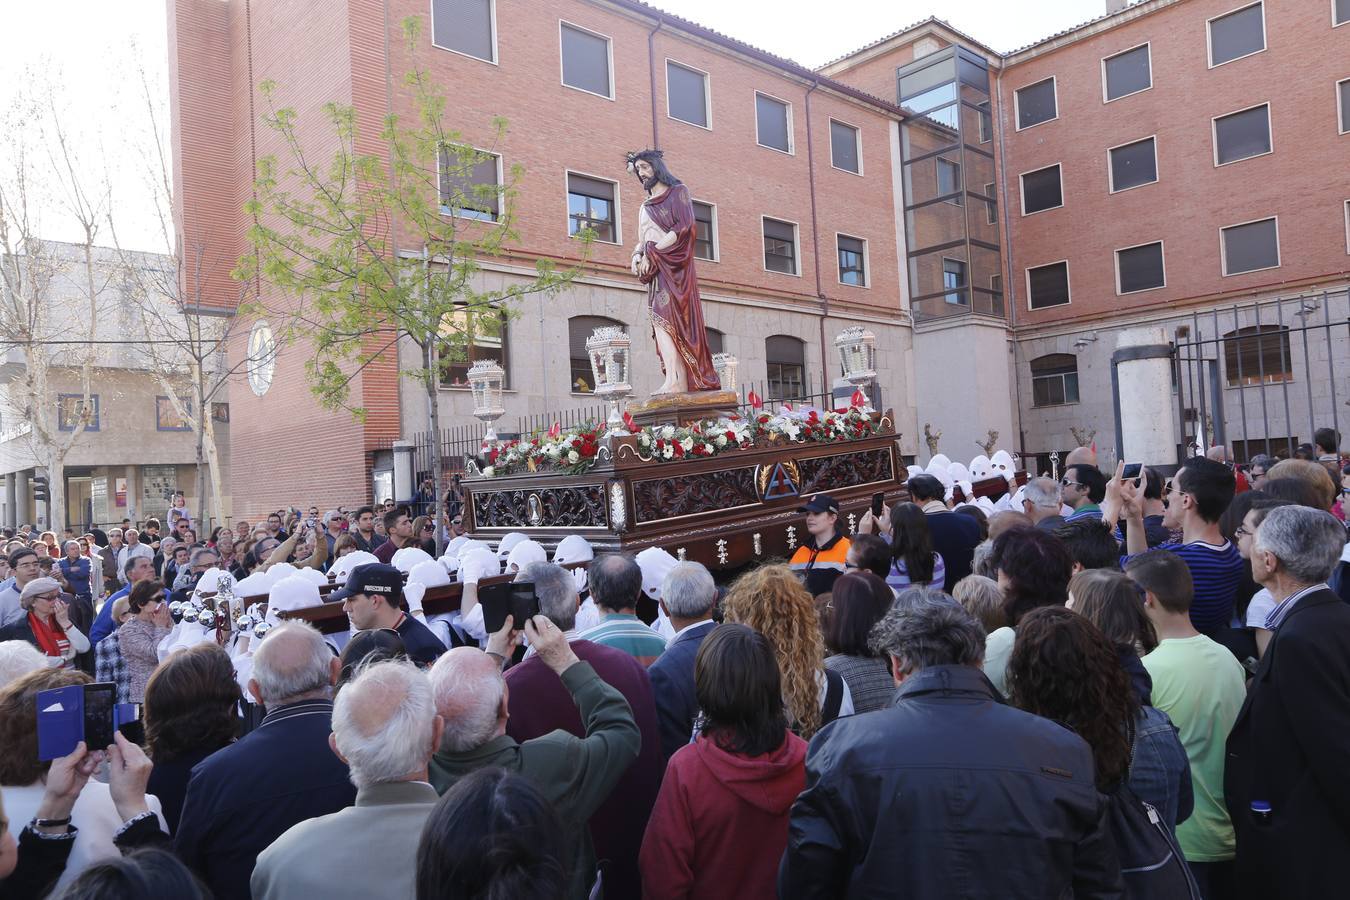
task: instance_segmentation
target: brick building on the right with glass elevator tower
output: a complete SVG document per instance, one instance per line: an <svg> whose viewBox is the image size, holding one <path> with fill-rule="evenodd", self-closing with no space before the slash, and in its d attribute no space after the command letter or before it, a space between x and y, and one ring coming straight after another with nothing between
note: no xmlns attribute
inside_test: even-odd
<svg viewBox="0 0 1350 900"><path fill-rule="evenodd" d="M1179 348L1158 410L1179 444L1288 452L1350 394L1350 3L1111 5L1010 54L930 19L821 69L927 139L906 144L906 186L945 184L907 190L911 254L998 223L994 273L983 247L936 252L968 266L949 285L1006 309L956 287L933 309L936 269L911 266L919 420L968 389L925 376L929 333L980 332L1007 359L981 387L1006 368L1023 449L1075 447L1077 426L1111 459L1112 351L1154 325Z"/></svg>

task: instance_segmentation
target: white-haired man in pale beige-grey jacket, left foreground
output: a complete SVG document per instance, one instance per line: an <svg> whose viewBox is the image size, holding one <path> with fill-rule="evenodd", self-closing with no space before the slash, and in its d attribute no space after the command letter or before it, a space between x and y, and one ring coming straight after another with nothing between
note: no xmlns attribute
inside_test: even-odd
<svg viewBox="0 0 1350 900"><path fill-rule="evenodd" d="M328 743L351 770L356 804L301 822L263 850L254 900L416 893L417 842L436 806L427 764L444 725L431 681L408 663L370 665L343 687L332 722Z"/></svg>

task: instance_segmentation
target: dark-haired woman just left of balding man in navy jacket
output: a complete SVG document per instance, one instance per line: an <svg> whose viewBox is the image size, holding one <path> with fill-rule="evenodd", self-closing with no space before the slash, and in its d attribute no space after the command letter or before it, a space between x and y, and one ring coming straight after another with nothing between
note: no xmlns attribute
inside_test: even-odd
<svg viewBox="0 0 1350 900"><path fill-rule="evenodd" d="M174 653L146 684L146 752L155 768L146 788L163 803L170 833L178 830L192 766L231 743L242 694L235 667L208 641Z"/></svg>

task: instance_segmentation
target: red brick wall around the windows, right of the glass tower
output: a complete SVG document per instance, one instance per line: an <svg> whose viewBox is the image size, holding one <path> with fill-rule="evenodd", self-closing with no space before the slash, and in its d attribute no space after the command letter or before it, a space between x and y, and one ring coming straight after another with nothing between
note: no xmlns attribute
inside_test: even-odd
<svg viewBox="0 0 1350 900"><path fill-rule="evenodd" d="M1266 0L1266 51L1208 69L1206 19L1237 5L1179 3L1006 69L1000 127L1019 324L1292 290L1350 269L1350 135L1336 134L1334 89L1350 76L1350 30L1331 28L1327 3ZM1153 88L1104 104L1102 58L1145 40ZM1013 92L1052 74L1060 117L1015 131ZM1264 101L1272 104L1274 152L1215 167L1211 117ZM1110 194L1107 147L1154 134L1160 181ZM1064 208L1023 219L1018 175L1056 162ZM1272 215L1280 217L1281 267L1223 277L1219 227ZM1166 287L1118 297L1114 250L1160 239ZM1072 302L1029 312L1026 267L1064 258Z"/></svg>

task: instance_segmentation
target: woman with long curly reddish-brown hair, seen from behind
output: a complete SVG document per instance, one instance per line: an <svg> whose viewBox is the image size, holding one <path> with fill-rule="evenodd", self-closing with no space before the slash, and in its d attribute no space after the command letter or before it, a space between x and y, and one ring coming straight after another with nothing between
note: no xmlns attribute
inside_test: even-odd
<svg viewBox="0 0 1350 900"><path fill-rule="evenodd" d="M794 731L810 738L841 715L853 715L848 683L825 668L825 640L815 603L786 565L761 565L736 579L726 592L728 622L748 625L768 638L783 676L783 706Z"/></svg>

